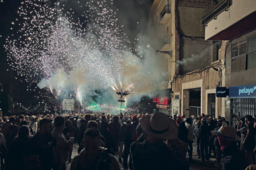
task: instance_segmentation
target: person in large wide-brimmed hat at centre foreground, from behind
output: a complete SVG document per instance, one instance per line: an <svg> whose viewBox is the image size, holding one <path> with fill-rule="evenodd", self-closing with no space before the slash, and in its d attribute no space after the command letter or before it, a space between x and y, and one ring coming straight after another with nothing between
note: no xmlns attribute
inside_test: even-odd
<svg viewBox="0 0 256 170"><path fill-rule="evenodd" d="M164 113L145 116L140 122L148 139L130 146L134 170L189 169L189 163L180 150L168 149L164 140L176 139L178 128Z"/></svg>

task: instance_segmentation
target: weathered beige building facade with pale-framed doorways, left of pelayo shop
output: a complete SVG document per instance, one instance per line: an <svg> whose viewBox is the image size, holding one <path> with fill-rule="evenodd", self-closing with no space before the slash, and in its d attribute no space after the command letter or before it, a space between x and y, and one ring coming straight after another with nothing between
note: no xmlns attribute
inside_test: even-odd
<svg viewBox="0 0 256 170"><path fill-rule="evenodd" d="M223 115L221 99L215 96L221 85L219 68L223 62L220 41L205 41L201 19L215 1L155 0L150 16L156 30L163 33L169 28L168 40L163 43L159 58L168 65L169 81L160 83L160 89L170 89L169 115ZM167 11L164 13L163 11ZM157 22L156 22L157 21ZM163 99L162 99L163 100ZM163 106L160 106L163 107Z"/></svg>

